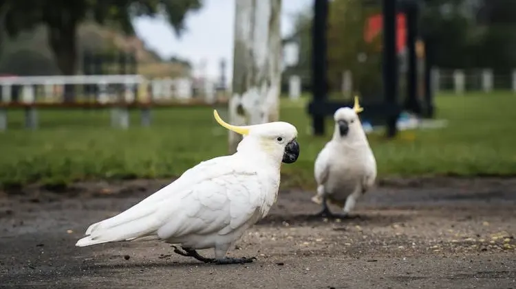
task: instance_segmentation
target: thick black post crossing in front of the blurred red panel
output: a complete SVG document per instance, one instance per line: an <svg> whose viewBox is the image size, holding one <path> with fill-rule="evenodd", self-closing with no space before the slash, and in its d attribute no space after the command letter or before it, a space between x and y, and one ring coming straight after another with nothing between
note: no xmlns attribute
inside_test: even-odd
<svg viewBox="0 0 516 289"><path fill-rule="evenodd" d="M398 61L396 57L396 0L382 0L383 4L383 90L385 104L397 107ZM396 136L398 113L387 116L387 137Z"/></svg>

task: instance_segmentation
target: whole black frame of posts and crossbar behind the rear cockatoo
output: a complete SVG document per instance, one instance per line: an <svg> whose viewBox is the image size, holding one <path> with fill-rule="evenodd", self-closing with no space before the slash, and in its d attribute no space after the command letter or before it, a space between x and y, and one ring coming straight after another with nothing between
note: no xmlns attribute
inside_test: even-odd
<svg viewBox="0 0 516 289"><path fill-rule="evenodd" d="M387 137L395 137L396 122L401 112L398 104L398 61L396 56L396 12L403 9L407 15L407 99L404 108L422 114L422 106L417 97L417 58L416 39L418 38L419 0L401 0L402 7L397 7L399 0L382 0L383 5L383 103L365 102L362 113L365 117L383 117L387 125ZM343 106L352 106L350 102L333 102L327 100L327 39L326 25L328 0L314 0L314 19L312 25L312 93L313 100L308 104L308 113L312 116L314 135L325 134L325 116L333 115ZM424 115L433 115L433 95L430 89L431 57L425 53Z"/></svg>

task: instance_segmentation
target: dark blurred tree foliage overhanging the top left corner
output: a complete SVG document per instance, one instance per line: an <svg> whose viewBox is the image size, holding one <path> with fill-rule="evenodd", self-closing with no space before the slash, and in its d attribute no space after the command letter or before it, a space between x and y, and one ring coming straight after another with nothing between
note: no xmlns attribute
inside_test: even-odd
<svg viewBox="0 0 516 289"><path fill-rule="evenodd" d="M78 67L81 23L94 21L133 34L133 17L163 15L180 35L186 13L198 10L201 4L200 0L0 0L0 8L5 8L1 30L16 37L43 25L56 66L69 75Z"/></svg>

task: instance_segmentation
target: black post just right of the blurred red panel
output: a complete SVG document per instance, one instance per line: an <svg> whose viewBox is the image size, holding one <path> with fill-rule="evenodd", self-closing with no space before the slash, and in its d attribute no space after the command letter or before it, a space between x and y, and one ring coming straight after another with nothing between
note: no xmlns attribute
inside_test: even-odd
<svg viewBox="0 0 516 289"><path fill-rule="evenodd" d="M409 3L405 10L407 17L407 100L405 108L413 113L421 113L421 104L418 100L418 58L416 56L416 39L418 38L418 8L416 3Z"/></svg>

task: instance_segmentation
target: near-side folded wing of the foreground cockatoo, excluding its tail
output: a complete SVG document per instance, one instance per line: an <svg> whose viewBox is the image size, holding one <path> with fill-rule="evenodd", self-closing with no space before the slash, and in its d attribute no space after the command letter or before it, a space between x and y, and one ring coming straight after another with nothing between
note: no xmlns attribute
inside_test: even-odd
<svg viewBox="0 0 516 289"><path fill-rule="evenodd" d="M162 239L185 235L226 235L261 214L265 194L257 174L228 174L195 185L180 202L160 209ZM171 209L175 206L175 209Z"/></svg>

